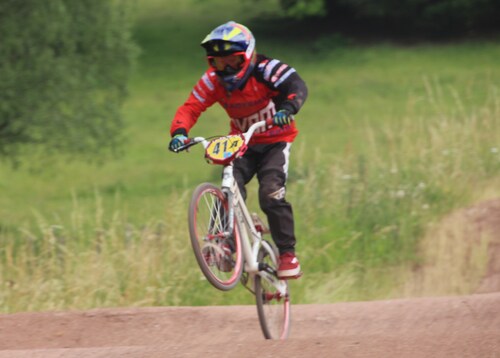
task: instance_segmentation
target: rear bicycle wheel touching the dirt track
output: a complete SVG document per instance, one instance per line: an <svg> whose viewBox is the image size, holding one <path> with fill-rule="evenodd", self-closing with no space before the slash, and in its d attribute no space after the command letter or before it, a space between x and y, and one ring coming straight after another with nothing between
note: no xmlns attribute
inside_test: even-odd
<svg viewBox="0 0 500 358"><path fill-rule="evenodd" d="M268 245L271 247L271 245ZM265 246L258 253L258 261L277 270L277 252L271 255ZM276 251L276 250L275 250ZM284 297L266 278L255 276L255 299L262 333L266 339L287 339L290 334L291 302L286 281Z"/></svg>

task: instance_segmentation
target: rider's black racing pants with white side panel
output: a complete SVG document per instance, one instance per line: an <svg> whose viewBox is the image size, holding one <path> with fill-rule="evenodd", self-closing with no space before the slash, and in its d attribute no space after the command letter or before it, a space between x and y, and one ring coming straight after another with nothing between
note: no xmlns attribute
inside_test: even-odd
<svg viewBox="0 0 500 358"><path fill-rule="evenodd" d="M250 146L242 158L234 162L234 177L246 199L245 185L257 174L259 204L267 215L271 236L280 254L295 251L292 206L285 200L285 185L291 143Z"/></svg>

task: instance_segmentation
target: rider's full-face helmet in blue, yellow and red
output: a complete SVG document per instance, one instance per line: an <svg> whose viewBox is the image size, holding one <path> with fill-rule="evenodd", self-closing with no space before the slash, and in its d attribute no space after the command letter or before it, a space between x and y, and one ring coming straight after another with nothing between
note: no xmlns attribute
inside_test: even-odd
<svg viewBox="0 0 500 358"><path fill-rule="evenodd" d="M255 66L255 38L247 27L234 21L216 27L201 46L228 91L240 87Z"/></svg>

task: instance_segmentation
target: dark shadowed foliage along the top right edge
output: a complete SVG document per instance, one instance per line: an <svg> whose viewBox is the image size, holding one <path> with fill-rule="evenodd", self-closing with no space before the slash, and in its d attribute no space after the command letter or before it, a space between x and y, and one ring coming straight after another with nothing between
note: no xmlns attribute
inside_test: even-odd
<svg viewBox="0 0 500 358"><path fill-rule="evenodd" d="M326 15L332 27L343 22L354 27L389 28L403 35L462 35L498 31L500 26L500 3L496 0L281 0L280 5L295 19Z"/></svg>

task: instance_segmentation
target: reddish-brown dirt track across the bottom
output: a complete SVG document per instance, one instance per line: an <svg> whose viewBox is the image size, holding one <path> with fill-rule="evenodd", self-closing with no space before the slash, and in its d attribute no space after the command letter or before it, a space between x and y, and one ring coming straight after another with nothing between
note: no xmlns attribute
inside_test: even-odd
<svg viewBox="0 0 500 358"><path fill-rule="evenodd" d="M500 357L500 293L293 306L285 342L255 307L0 316L0 357Z"/></svg>

